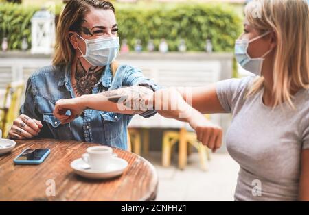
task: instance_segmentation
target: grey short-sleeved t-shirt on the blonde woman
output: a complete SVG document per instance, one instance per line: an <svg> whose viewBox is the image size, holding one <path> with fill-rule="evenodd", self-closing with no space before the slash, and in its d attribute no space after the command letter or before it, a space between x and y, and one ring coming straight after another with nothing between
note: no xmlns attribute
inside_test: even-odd
<svg viewBox="0 0 309 215"><path fill-rule="evenodd" d="M236 201L295 201L298 197L301 150L309 149L309 90L273 108L262 94L245 99L254 76L219 81L222 108L232 113L226 134L227 150L238 164Z"/></svg>

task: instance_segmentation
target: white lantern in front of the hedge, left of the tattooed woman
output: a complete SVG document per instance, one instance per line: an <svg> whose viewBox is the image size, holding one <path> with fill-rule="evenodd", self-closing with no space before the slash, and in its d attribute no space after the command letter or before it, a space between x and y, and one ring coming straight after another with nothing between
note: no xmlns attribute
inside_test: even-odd
<svg viewBox="0 0 309 215"><path fill-rule="evenodd" d="M31 38L31 53L52 53L55 43L55 15L52 12L43 9L34 13Z"/></svg>

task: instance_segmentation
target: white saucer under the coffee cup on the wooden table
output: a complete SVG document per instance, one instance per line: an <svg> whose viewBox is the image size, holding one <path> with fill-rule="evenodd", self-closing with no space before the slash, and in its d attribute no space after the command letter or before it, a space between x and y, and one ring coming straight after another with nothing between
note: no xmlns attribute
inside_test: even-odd
<svg viewBox="0 0 309 215"><path fill-rule="evenodd" d="M111 158L110 164L104 171L91 170L88 164L86 164L82 158L78 158L71 162L71 168L73 168L74 173L88 179L109 179L121 175L126 167L128 162L119 157Z"/></svg>

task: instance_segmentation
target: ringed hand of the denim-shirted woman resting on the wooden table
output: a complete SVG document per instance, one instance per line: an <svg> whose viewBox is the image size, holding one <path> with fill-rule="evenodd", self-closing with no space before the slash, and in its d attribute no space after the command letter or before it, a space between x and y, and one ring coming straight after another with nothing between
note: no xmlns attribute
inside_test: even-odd
<svg viewBox="0 0 309 215"><path fill-rule="evenodd" d="M13 126L9 131L9 137L12 139L27 139L38 136L43 127L41 121L30 118L25 114L21 114L14 120Z"/></svg>

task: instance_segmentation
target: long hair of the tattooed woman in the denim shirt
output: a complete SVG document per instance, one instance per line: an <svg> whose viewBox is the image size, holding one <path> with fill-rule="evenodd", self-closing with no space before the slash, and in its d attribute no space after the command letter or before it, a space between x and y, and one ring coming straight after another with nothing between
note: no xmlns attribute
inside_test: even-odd
<svg viewBox="0 0 309 215"><path fill-rule="evenodd" d="M84 16L93 8L112 10L115 14L113 4L104 0L71 0L65 5L56 29L54 66L63 66L71 63L75 49L69 40L69 31L76 31L80 34L80 27L84 21ZM111 63L113 75L115 75L117 67L117 62L114 61Z"/></svg>

